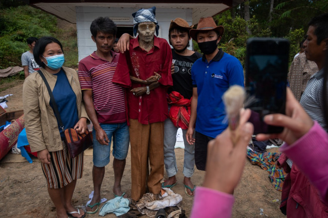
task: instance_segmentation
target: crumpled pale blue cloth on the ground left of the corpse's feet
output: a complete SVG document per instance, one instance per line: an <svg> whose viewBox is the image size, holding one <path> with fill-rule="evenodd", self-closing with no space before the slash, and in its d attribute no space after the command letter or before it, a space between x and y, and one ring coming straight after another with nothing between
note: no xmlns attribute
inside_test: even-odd
<svg viewBox="0 0 328 218"><path fill-rule="evenodd" d="M130 211L129 207L130 201L123 197L116 197L107 201L103 207L100 209L99 215L105 216L106 214L113 213L117 217L123 214L128 213Z"/></svg>

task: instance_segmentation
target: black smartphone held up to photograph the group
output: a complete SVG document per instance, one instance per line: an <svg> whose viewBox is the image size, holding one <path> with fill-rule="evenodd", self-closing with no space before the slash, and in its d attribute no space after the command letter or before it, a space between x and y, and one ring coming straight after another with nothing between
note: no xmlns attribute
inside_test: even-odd
<svg viewBox="0 0 328 218"><path fill-rule="evenodd" d="M265 115L285 114L290 42L283 38L250 38L246 47L245 107L254 134L280 133L283 127L267 125Z"/></svg>

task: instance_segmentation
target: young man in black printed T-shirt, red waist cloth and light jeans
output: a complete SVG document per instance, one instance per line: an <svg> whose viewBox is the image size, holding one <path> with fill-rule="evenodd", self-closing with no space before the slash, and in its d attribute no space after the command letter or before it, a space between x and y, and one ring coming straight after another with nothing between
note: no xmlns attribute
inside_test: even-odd
<svg viewBox="0 0 328 218"><path fill-rule="evenodd" d="M191 80L191 66L202 55L198 52L189 50L189 30L193 26L182 18L176 18L171 20L168 29L169 43L172 45L172 56L174 64L174 72L172 72L173 86L168 88L167 93L170 94L172 91L178 92L185 99L184 106L179 109L179 106L175 106L174 103L168 104L168 109L172 110L184 110L190 108L190 98L192 96L192 80ZM175 94L176 95L176 94ZM180 96L181 97L181 96ZM181 99L180 99L181 100ZM179 104L180 105L180 104ZM175 108L174 108L175 107ZM178 108L177 108L178 107ZM190 110L188 111L190 115ZM179 113L180 114L180 113ZM173 114L170 113L170 117ZM164 121L164 165L168 176L168 179L162 183L162 187L172 188L176 184L176 160L174 154L174 146L176 142L176 133L182 120L176 121L179 117L172 117L173 122L170 118ZM187 122L189 122L189 116L186 116ZM180 118L181 119L181 118ZM183 118L182 118L183 119ZM182 126L183 127L183 126ZM187 129L182 129L183 141L184 141L184 163L183 163L183 185L185 187L185 193L188 196L193 196L195 186L191 183L191 176L194 172L194 144L189 145L185 138Z"/></svg>

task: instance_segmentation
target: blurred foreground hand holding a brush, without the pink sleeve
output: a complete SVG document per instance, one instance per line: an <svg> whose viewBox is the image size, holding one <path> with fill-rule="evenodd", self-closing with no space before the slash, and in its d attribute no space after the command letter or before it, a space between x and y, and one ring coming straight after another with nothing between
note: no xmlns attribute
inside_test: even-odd
<svg viewBox="0 0 328 218"><path fill-rule="evenodd" d="M246 160L246 148L253 134L253 125L246 122L250 115L249 109L241 110L239 126L236 130L238 141L235 145L229 128L208 143L203 187L228 194L233 193L241 178Z"/></svg>

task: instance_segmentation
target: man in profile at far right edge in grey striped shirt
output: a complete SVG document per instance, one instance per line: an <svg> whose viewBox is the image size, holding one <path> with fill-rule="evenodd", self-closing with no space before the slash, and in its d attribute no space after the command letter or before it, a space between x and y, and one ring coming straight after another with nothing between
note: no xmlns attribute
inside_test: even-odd
<svg viewBox="0 0 328 218"><path fill-rule="evenodd" d="M314 17L310 21L303 46L307 59L316 62L319 71L310 77L300 104L309 116L327 131L322 94L325 57L328 50L328 13Z"/></svg>

